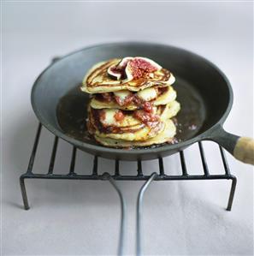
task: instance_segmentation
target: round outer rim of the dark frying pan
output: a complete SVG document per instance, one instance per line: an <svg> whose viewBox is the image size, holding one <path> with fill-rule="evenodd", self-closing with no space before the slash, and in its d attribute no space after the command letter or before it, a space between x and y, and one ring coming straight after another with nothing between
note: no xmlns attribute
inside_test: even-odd
<svg viewBox="0 0 254 256"><path fill-rule="evenodd" d="M229 80L227 79L227 76L222 72L222 70L220 68L218 68L216 66L216 64L211 63L208 59L198 55L197 53L193 52L193 51L188 51L184 48L181 47L176 47L174 45L165 45L165 44L160 44L157 42L142 42L142 41L119 41L119 42L112 42L112 43L103 43L103 44L98 44L98 45L90 45L90 46L86 46L84 48L81 48L80 50L77 51L72 51L70 53L68 53L67 55L64 55L63 57L61 57L59 59L59 61L61 61L64 58L67 58L71 55L74 55L80 51L86 51L88 49L92 49L92 48L99 48L102 46L109 46L109 45L151 45L151 46L158 46L158 47L170 47L170 48L174 48L176 50L179 51L185 51L188 54L192 54L195 57L198 57L200 59L202 59L205 63L209 64L211 68L214 68L215 71L220 74L222 76L222 79L225 80L226 84L227 84L227 89L229 92L229 101L227 104L227 109L224 111L224 113L222 114L221 118L214 124L212 125L210 128L208 128L207 130L205 130L203 133L198 134L196 136L194 136L193 138L189 139L189 140L184 140L184 141L180 141L179 143L176 144L165 144L162 146L157 146L155 148L145 148L145 149L132 149L132 150L126 150L126 149L121 149L121 148L111 148L111 147L106 147L106 146L100 146L100 145L92 145L89 143L86 143L84 141L81 140L76 140L70 136L68 136L67 134L64 134L63 132L61 132L60 130L54 128L54 126L52 126L49 122L47 122L44 119L44 116L42 116L40 114L40 111L37 108L37 105L35 103L34 100L34 93L36 91L36 88L38 86L38 81L40 80L40 78L43 76L43 74L49 69L51 68L51 66L53 66L55 63L50 63L49 66L47 66L46 68L44 68L44 70L38 75L38 78L34 81L33 85L32 85L32 92L31 92L31 104L32 104L32 110L34 111L35 115L38 118L38 121L44 126L44 128L47 128L52 134L55 134L57 137L61 138L62 140L66 140L68 143L71 143L72 145L76 146L76 147L83 147L86 149L91 149L93 151L96 152L107 152L107 153L111 153L111 154L121 154L121 155L145 155L145 154L149 154L149 153L162 153L162 152L168 152L168 151L180 151L181 148L192 145L193 143L200 141L200 140L205 140L205 139L209 139L210 136L209 134L218 126L222 125L223 122L225 122L231 108L233 105L233 89L232 86L230 85ZM58 62L58 61L57 61Z"/></svg>

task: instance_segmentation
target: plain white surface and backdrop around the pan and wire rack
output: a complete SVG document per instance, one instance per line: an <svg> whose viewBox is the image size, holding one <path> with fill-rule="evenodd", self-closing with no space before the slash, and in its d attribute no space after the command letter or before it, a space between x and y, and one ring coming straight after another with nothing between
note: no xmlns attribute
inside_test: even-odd
<svg viewBox="0 0 254 256"><path fill-rule="evenodd" d="M3 2L3 255L115 254L119 200L108 182L28 181L22 209L19 176L27 169L37 120L32 82L50 58L86 45L156 41L203 55L227 74L234 92L225 128L253 136L253 3L13 3ZM156 49L155 49L156 51ZM219 92L218 92L219 93ZM53 135L43 130L34 170L46 172ZM191 173L201 173L197 146L186 150ZM205 144L210 172L222 172L217 146ZM60 141L56 172L66 173L71 146ZM77 171L90 170L79 152ZM165 159L180 171L179 157ZM144 253L252 255L253 171L231 156L238 177L233 211L225 211L230 182L155 182L145 194ZM113 163L101 160L101 171ZM134 173L133 163L121 164ZM157 163L144 163L144 170ZM134 253L135 200L141 182L119 182L127 199L127 254Z"/></svg>

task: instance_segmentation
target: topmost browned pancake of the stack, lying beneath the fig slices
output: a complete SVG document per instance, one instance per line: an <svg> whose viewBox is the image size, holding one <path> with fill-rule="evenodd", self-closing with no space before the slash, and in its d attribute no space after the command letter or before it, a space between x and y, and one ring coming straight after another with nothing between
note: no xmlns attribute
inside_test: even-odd
<svg viewBox="0 0 254 256"><path fill-rule="evenodd" d="M88 93L117 92L128 90L138 92L151 86L170 86L174 83L174 75L167 69L161 68L150 76L140 77L133 80L115 80L108 74L108 68L117 65L121 59L111 59L97 63L86 74L81 91Z"/></svg>

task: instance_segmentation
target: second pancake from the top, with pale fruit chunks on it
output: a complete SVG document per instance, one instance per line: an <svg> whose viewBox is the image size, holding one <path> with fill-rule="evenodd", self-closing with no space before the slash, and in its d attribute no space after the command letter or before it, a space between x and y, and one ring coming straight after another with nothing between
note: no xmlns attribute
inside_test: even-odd
<svg viewBox="0 0 254 256"><path fill-rule="evenodd" d="M154 89L151 90L151 89ZM120 110L137 110L140 108L140 104L138 102L134 102L133 99L128 104L118 104L118 102L115 100L115 95L116 97L122 97L121 99L124 101L127 97L143 97L141 100L145 99L150 99L149 101L151 104L154 106L162 105L162 104L168 104L176 98L176 92L174 91L174 88L172 86L164 87L162 93L159 90L162 89L157 89L154 87L146 88L142 91L139 91L138 93L133 93L128 91L120 91L120 92L115 92L111 93L111 98L109 100L105 100L101 94L97 94L95 97L92 97L91 100L91 106L93 109L120 109ZM123 93L121 93L123 92ZM140 96L140 93L143 92L143 94ZM120 94L121 93L121 94ZM120 95L120 96L118 96ZM131 96L130 96L131 95Z"/></svg>

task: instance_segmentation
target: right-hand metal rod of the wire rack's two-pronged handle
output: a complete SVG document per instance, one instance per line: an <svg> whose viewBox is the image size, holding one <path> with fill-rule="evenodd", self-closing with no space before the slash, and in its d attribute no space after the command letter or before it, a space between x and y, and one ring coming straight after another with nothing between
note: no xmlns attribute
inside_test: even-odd
<svg viewBox="0 0 254 256"><path fill-rule="evenodd" d="M136 244L136 252L137 256L141 255L141 216L142 216L142 200L144 197L145 190L149 187L151 182L157 177L157 173L154 172L151 174L149 180L145 182L145 184L142 186L142 188L139 190L139 196L137 200L137 244Z"/></svg>

